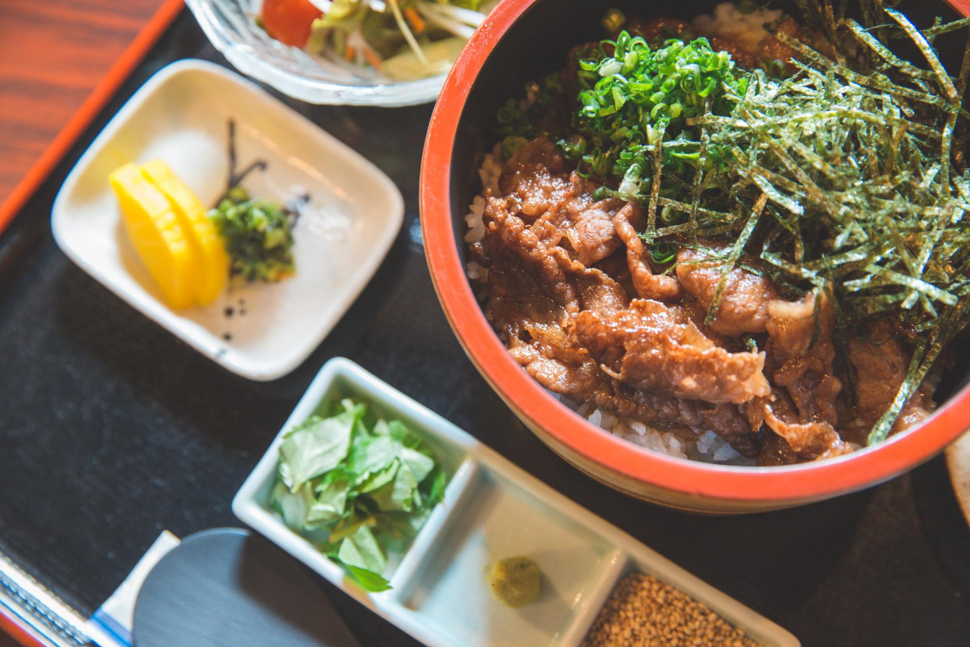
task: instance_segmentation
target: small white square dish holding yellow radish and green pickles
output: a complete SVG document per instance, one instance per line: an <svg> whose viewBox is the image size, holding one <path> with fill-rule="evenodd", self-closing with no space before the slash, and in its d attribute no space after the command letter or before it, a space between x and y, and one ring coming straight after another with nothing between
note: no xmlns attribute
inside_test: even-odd
<svg viewBox="0 0 970 647"><path fill-rule="evenodd" d="M251 195L279 203L310 196L293 232L297 272L273 284L234 281L211 306L174 310L121 227L108 176L161 158L212 205L226 188L229 119L239 167L268 162L243 181ZM84 152L54 201L51 227L64 253L124 301L226 369L268 380L327 336L403 219L397 186L356 151L238 74L182 60L146 81Z"/></svg>

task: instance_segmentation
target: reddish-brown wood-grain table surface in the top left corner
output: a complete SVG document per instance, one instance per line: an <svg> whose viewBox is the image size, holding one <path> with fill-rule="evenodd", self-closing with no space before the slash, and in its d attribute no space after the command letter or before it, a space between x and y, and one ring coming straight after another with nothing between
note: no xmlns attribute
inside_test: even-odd
<svg viewBox="0 0 970 647"><path fill-rule="evenodd" d="M0 201L162 0L0 0Z"/></svg>

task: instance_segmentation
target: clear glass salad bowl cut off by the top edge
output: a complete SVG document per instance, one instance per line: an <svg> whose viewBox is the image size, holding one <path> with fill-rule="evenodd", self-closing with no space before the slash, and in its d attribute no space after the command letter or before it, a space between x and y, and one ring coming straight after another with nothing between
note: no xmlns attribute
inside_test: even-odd
<svg viewBox="0 0 970 647"><path fill-rule="evenodd" d="M435 101L444 83L445 74L391 81L372 68L285 45L257 24L262 0L186 0L185 4L215 49L242 74L307 103L412 106Z"/></svg>

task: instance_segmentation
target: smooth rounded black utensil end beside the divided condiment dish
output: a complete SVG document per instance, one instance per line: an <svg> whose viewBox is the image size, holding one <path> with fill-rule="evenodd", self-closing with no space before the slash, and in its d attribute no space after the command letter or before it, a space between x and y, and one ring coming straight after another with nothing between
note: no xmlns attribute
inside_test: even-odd
<svg viewBox="0 0 970 647"><path fill-rule="evenodd" d="M132 634L137 647L360 647L307 568L238 528L191 534L163 557Z"/></svg>

